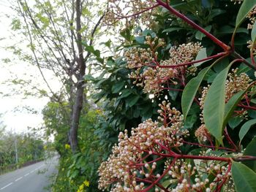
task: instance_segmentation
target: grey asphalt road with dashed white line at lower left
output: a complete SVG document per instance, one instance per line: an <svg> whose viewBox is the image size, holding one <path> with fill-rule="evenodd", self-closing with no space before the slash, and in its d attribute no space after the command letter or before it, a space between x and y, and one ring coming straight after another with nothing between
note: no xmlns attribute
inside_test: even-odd
<svg viewBox="0 0 256 192"><path fill-rule="evenodd" d="M0 192L46 192L50 177L57 172L58 158L0 175Z"/></svg>

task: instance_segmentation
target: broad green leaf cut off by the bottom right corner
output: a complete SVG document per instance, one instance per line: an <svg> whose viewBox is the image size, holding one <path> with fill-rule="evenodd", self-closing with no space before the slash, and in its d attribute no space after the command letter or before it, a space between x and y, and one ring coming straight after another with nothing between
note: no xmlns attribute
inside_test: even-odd
<svg viewBox="0 0 256 192"><path fill-rule="evenodd" d="M255 192L256 191L256 173L244 164L232 162L232 177L237 192Z"/></svg>

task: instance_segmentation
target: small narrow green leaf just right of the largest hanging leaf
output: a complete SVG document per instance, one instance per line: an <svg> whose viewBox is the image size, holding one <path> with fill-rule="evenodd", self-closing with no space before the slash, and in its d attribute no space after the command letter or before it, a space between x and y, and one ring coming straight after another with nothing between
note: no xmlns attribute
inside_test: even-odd
<svg viewBox="0 0 256 192"><path fill-rule="evenodd" d="M241 101L246 91L239 91L234 96L231 97L229 101L227 101L227 104L225 104L225 118L223 126L227 124L227 121L233 114L233 111L236 109L237 104Z"/></svg>

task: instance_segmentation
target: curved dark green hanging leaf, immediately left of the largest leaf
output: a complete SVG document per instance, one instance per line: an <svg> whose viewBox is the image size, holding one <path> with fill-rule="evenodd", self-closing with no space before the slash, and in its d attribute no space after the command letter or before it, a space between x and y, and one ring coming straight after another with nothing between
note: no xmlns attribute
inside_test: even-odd
<svg viewBox="0 0 256 192"><path fill-rule="evenodd" d="M203 77L206 75L210 68L211 67L208 66L205 69L201 70L197 77L194 77L192 80L190 80L184 88L181 96L181 108L185 119L193 103L195 94L197 93L197 89L203 81Z"/></svg>

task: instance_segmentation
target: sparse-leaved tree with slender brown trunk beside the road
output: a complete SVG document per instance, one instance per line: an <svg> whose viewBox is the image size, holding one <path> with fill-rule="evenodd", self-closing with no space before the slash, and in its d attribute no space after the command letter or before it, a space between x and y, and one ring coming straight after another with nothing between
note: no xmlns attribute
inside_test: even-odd
<svg viewBox="0 0 256 192"><path fill-rule="evenodd" d="M36 65L49 91L39 91L58 102L62 112L69 116L69 142L72 151L78 150L78 127L81 110L86 102L86 69L92 58L102 62L95 39L99 35L105 6L102 1L45 1L18 0L12 20L12 29L19 31L31 54L16 51L20 58ZM12 47L17 50L17 47ZM91 54L93 53L93 54ZM45 69L53 72L61 82L54 91L45 77ZM69 110L64 107L69 104Z"/></svg>

